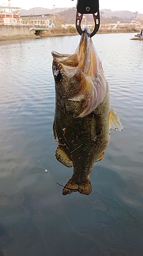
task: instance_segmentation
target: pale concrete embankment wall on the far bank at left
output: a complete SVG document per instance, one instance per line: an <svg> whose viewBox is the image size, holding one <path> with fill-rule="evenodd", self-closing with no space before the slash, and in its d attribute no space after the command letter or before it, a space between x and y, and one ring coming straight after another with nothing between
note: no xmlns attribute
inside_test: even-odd
<svg viewBox="0 0 143 256"><path fill-rule="evenodd" d="M30 26L0 25L0 37L16 35L34 35L35 30L30 31Z"/></svg>

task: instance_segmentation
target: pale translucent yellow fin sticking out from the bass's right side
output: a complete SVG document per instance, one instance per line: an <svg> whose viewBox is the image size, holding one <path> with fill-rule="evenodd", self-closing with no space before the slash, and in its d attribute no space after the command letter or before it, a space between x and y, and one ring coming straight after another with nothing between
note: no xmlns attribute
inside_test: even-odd
<svg viewBox="0 0 143 256"><path fill-rule="evenodd" d="M119 117L116 115L116 112L113 109L110 109L109 113L109 127L111 130L120 131L123 130L123 125L120 122Z"/></svg>

